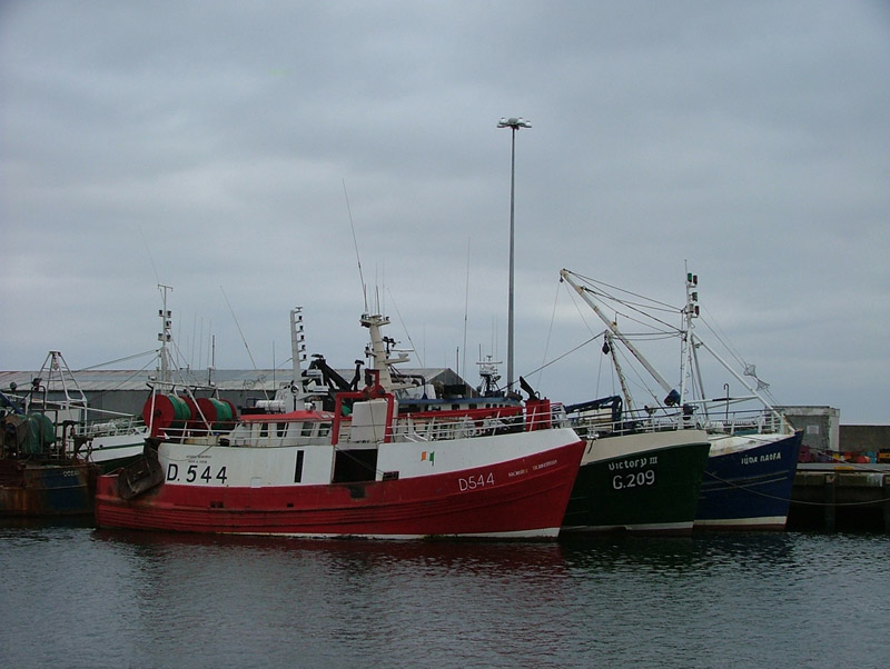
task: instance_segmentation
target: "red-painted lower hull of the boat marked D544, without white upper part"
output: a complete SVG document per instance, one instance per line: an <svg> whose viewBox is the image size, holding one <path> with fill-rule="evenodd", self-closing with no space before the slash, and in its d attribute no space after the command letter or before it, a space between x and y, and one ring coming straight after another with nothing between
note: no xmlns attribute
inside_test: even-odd
<svg viewBox="0 0 890 669"><path fill-rule="evenodd" d="M130 501L99 479L101 528L296 536L555 537L583 441L516 460L425 477L266 488L161 485ZM517 473L522 472L522 473Z"/></svg>

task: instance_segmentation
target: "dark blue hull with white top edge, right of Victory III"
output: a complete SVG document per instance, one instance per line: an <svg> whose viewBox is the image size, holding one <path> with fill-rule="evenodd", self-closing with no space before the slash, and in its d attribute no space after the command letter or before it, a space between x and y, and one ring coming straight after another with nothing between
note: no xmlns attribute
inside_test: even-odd
<svg viewBox="0 0 890 669"><path fill-rule="evenodd" d="M714 437L695 529L783 530L801 439L802 432Z"/></svg>

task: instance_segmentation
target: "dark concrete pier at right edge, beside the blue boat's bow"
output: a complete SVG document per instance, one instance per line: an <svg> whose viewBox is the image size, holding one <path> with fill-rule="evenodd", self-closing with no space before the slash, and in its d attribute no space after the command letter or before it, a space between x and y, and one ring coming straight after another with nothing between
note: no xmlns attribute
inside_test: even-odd
<svg viewBox="0 0 890 669"><path fill-rule="evenodd" d="M890 531L890 465L798 465L788 529Z"/></svg>

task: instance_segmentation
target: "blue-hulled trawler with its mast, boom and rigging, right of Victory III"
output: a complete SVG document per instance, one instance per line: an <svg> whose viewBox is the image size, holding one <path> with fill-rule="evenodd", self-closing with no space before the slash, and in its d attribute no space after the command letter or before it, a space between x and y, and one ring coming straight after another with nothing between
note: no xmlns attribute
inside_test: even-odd
<svg viewBox="0 0 890 669"><path fill-rule="evenodd" d="M606 326L606 347L621 343L649 372L663 393L661 402L645 407L645 421L672 426L680 433L703 430L709 452L704 467L694 528L696 529L783 529L788 519L791 487L797 471L798 452L802 433L795 431L788 419L768 401L760 389L753 388L720 357L712 347L699 338L694 329L700 318L698 304L698 276L686 273L686 301L675 312L682 324L668 327L662 318L652 318L651 332L659 337L676 337L681 342L680 390L655 370L639 351L631 338L622 332L615 320L609 318L600 303L622 304L616 293L620 289L580 277L563 269L561 278L594 309ZM646 310L639 294L633 296L634 321L645 322ZM597 303L597 301L600 303ZM651 302L654 304L654 302ZM663 309L664 304L657 304ZM624 307L629 309L629 307ZM652 338L652 334L649 338ZM643 337L642 334L640 337ZM738 397L709 398L704 391L698 351L704 349L715 362L741 383L746 392ZM615 361L620 378L623 371ZM749 372L752 369L749 366ZM729 388L729 386L724 386ZM659 397L652 393L652 397ZM755 408L749 408L755 403ZM733 407L733 410L730 410Z"/></svg>

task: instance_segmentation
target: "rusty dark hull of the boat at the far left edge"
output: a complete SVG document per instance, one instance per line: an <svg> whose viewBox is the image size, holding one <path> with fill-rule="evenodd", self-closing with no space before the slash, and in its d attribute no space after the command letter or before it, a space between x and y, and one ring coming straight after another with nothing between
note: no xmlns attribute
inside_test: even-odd
<svg viewBox="0 0 890 669"><path fill-rule="evenodd" d="M0 517L92 513L96 478L96 468L85 462L0 460Z"/></svg>

